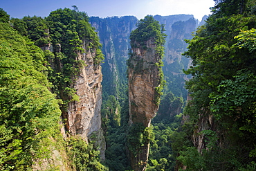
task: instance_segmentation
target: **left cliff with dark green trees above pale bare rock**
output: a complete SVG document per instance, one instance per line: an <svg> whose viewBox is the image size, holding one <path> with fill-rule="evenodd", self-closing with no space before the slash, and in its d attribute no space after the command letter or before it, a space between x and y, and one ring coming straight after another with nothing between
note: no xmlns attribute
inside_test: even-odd
<svg viewBox="0 0 256 171"><path fill-rule="evenodd" d="M53 91L57 91L64 100L62 117L66 120L66 132L71 136L78 134L84 141L97 133L99 141L102 141L102 54L98 37L83 12L59 9L51 12L46 20L50 25L50 37L55 50L52 65L55 73L52 73L52 77L61 77L52 80L57 88ZM61 32L66 36L58 35Z"/></svg>

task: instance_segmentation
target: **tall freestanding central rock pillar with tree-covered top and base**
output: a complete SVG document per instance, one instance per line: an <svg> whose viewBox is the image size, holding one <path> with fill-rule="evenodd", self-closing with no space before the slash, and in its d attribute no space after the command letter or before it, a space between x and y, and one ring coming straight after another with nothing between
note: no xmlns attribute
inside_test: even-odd
<svg viewBox="0 0 256 171"><path fill-rule="evenodd" d="M146 16L138 21L137 28L130 35L131 51L127 60L130 127L127 145L134 170L145 169L149 142L154 140L149 126L158 110L164 83L161 59L166 35L163 31L164 26L154 17Z"/></svg>

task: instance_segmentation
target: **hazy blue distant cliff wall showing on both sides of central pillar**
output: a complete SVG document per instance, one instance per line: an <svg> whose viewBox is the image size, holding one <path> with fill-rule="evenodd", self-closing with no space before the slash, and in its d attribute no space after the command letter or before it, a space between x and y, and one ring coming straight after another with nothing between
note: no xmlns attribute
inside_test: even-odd
<svg viewBox="0 0 256 171"><path fill-rule="evenodd" d="M163 58L163 72L170 84L170 89L175 96L186 97L187 91L182 88L184 79L188 80L188 76L183 74L182 69L188 69L190 60L183 57L183 53L187 44L184 39L192 38L192 31L196 29L199 23L193 18L193 15L170 15L170 16L154 16L154 19L160 24L165 24L166 44L165 57ZM126 87L126 60L128 59L129 35L131 30L136 28L138 19L134 16L125 17L90 17L90 23L98 32L100 43L102 44L102 53L105 55L102 64L102 89L103 100L109 95L120 99L125 96L123 87ZM173 82L173 80L176 80ZM182 89L182 92L176 93L176 89Z"/></svg>

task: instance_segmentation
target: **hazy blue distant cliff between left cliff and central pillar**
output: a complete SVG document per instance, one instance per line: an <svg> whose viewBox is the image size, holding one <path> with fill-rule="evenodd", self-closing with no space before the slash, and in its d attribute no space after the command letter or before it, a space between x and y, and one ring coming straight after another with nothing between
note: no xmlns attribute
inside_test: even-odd
<svg viewBox="0 0 256 171"><path fill-rule="evenodd" d="M117 99L125 96L122 87L127 85L126 60L128 59L129 35L136 28L138 19L125 17L91 17L90 23L98 32L104 63L102 64L103 99L112 95Z"/></svg>

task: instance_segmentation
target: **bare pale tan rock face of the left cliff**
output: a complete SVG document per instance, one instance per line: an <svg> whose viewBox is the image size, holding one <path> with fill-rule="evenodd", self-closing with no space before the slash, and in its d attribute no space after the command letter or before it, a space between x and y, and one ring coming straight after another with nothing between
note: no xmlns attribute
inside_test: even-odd
<svg viewBox="0 0 256 171"><path fill-rule="evenodd" d="M84 49L86 49L84 45ZM104 136L101 129L100 108L102 105L102 73L101 66L93 63L94 51L79 53L77 60L84 61L80 72L73 78L73 87L79 100L68 103L64 118L69 134L79 134L84 141L88 141L92 134L96 134L96 143L100 148L101 158L104 160ZM95 141L95 140L94 140Z"/></svg>

